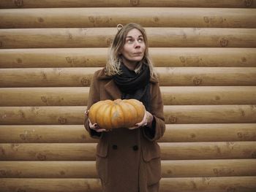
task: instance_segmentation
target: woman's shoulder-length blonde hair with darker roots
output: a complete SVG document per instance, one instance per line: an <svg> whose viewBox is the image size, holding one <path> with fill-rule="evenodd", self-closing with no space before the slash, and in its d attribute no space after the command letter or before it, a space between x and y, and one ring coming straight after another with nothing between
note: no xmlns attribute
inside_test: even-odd
<svg viewBox="0 0 256 192"><path fill-rule="evenodd" d="M121 26L121 25L119 24L118 26ZM137 23L128 23L126 26L118 28L118 32L117 32L115 38L113 39L113 42L111 43L109 53L108 53L108 61L106 64L106 74L107 75L113 76L115 74L121 74L120 52L121 52L122 48L124 47L128 32L131 31L133 28L138 29L138 31L140 31L140 33L143 35L143 40L144 40L145 47L146 47L143 59L140 61L140 64L138 64L138 66L140 66L141 64L147 64L150 69L151 76L157 75L156 72L154 72L154 66L152 64L151 59L149 58L149 55L148 55L148 39L146 37L146 31L142 26L140 26Z"/></svg>

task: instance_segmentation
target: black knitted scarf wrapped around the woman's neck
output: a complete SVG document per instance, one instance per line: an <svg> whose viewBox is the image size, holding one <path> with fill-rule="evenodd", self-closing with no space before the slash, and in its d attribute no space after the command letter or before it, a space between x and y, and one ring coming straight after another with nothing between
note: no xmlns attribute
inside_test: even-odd
<svg viewBox="0 0 256 192"><path fill-rule="evenodd" d="M151 93L150 93L150 70L148 65L143 64L139 73L131 71L121 64L121 74L113 76L113 80L120 89L121 99L137 99L143 102L146 110L151 110Z"/></svg>

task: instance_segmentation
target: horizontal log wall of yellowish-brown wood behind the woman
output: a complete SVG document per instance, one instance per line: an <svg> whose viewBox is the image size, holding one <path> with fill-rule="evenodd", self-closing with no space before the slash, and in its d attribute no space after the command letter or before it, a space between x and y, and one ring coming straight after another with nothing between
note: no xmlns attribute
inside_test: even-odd
<svg viewBox="0 0 256 192"><path fill-rule="evenodd" d="M160 192L256 191L253 0L1 0L0 191L99 192L83 128L116 25L146 27L165 104Z"/></svg>

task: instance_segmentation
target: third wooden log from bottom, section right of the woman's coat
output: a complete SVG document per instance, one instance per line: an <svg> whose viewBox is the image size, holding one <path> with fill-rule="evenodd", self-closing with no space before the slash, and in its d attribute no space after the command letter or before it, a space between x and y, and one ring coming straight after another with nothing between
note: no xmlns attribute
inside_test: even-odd
<svg viewBox="0 0 256 192"><path fill-rule="evenodd" d="M255 158L256 142L161 142L162 160Z"/></svg>

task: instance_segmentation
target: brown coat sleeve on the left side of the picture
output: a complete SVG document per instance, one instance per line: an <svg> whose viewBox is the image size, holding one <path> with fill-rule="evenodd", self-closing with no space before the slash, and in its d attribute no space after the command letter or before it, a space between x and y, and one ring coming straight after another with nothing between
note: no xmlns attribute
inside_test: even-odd
<svg viewBox="0 0 256 192"><path fill-rule="evenodd" d="M87 103L87 110L90 110L91 105L99 101L99 87L97 86L99 85L99 83L97 83L97 73L98 72L94 73L94 77L92 78L92 81L91 81L89 98ZM84 118L84 126L92 138L99 139L99 137L101 137L102 135L101 133L98 133L97 131L94 131L89 127L89 117L87 115L85 115L85 118Z"/></svg>

